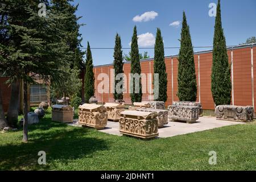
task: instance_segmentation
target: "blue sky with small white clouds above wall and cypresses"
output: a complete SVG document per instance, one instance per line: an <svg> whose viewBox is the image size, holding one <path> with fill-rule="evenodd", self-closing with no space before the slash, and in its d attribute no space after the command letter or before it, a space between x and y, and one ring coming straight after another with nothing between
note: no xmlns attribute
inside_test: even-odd
<svg viewBox="0 0 256 182"><path fill-rule="evenodd" d="M80 28L85 48L87 41L92 48L113 48L117 32L121 35L122 46L130 47L135 25L138 35L142 35L139 47L154 47L158 27L162 31L164 47L179 47L181 23L178 26L177 22L182 21L183 10L187 15L193 46L212 46L213 43L215 18L209 16L209 4L217 3L217 0L75 0L73 3L79 3L77 16L82 16L79 23L86 24ZM221 11L227 46L238 45L250 36L256 36L255 0L222 0ZM154 57L154 49L140 49L140 52L144 51ZM129 50L124 49L123 52ZM165 49L166 56L178 52L179 49ZM94 65L113 63L113 49L92 49L92 56Z"/></svg>

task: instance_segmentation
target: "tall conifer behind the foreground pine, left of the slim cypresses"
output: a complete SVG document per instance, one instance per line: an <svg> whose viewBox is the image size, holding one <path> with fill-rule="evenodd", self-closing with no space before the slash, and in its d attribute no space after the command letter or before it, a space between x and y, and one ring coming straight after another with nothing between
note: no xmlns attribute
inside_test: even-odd
<svg viewBox="0 0 256 182"><path fill-rule="evenodd" d="M61 81L51 80L51 96L53 98L69 97L71 98L72 106L79 106L81 102L81 88L82 81L80 79L81 69L84 69L84 61L82 56L84 52L80 50L81 46L81 34L79 34L79 28L83 24L77 23L80 19L76 17L76 11L78 6L71 5L68 1L55 1L52 9L60 11L61 13L68 15L68 19L63 20L65 27L64 39L69 46L69 56L65 57L67 64L61 67L63 75Z"/></svg>

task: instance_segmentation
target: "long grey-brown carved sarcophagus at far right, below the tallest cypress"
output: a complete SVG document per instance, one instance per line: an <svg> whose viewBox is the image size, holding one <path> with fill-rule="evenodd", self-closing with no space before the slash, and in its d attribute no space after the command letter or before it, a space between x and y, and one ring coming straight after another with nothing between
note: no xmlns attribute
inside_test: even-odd
<svg viewBox="0 0 256 182"><path fill-rule="evenodd" d="M218 105L215 108L218 120L249 122L254 119L253 106Z"/></svg>

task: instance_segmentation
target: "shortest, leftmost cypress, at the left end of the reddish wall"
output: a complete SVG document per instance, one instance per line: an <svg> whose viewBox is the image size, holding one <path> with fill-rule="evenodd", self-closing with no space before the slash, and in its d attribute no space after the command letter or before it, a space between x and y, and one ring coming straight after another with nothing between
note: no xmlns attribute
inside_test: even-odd
<svg viewBox="0 0 256 182"><path fill-rule="evenodd" d="M86 72L85 72L85 103L89 102L90 97L94 96L94 73L92 52L90 51L90 44L88 42L86 51Z"/></svg>

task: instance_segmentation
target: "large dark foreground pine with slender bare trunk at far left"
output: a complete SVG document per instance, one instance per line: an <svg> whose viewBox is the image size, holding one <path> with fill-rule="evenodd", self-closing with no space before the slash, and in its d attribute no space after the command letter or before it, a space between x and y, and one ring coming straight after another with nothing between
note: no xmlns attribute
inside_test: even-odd
<svg viewBox="0 0 256 182"><path fill-rule="evenodd" d="M47 16L38 15L38 5L45 2ZM7 1L1 10L5 24L1 24L0 72L9 76L9 84L23 80L23 142L28 141L28 85L33 75L45 81L61 78L60 67L65 65L69 47L65 41L65 20L68 14L51 9L48 1ZM2 16L3 17L3 16ZM32 73L32 74L31 74Z"/></svg>

